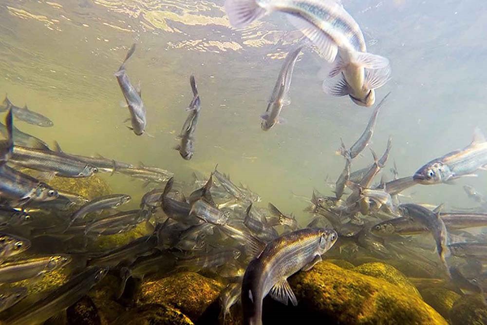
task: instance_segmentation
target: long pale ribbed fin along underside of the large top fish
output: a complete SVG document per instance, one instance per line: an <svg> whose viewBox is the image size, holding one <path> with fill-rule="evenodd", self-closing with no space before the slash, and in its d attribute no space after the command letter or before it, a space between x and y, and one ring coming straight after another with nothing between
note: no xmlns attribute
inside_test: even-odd
<svg viewBox="0 0 487 325"><path fill-rule="evenodd" d="M338 53L337 43L335 43L327 34L318 29L314 24L298 16L287 15L287 19L318 47L319 52L323 55L325 60L328 62L333 62L335 60Z"/></svg>

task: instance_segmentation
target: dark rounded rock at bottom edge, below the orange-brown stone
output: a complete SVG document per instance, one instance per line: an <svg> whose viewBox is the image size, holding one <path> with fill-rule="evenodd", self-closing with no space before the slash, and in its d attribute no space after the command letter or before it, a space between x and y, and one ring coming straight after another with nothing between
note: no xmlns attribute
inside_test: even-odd
<svg viewBox="0 0 487 325"><path fill-rule="evenodd" d="M115 325L193 325L181 311L168 305L149 304L125 312Z"/></svg>

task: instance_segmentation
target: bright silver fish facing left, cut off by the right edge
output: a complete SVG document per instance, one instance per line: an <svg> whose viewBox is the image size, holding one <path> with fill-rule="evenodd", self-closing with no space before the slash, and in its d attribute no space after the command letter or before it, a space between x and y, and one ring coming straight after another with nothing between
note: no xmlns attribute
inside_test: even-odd
<svg viewBox="0 0 487 325"><path fill-rule="evenodd" d="M418 184L453 184L461 177L476 175L479 169L487 168L487 141L476 128L472 142L465 148L435 158L418 169L412 178Z"/></svg>

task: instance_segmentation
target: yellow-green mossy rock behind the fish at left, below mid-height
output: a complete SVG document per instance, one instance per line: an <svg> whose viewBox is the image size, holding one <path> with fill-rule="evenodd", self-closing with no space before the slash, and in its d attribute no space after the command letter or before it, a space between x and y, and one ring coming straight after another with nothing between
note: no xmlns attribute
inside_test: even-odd
<svg viewBox="0 0 487 325"><path fill-rule="evenodd" d="M112 193L108 183L98 175L77 178L56 176L47 183L58 191L78 194L89 200Z"/></svg>

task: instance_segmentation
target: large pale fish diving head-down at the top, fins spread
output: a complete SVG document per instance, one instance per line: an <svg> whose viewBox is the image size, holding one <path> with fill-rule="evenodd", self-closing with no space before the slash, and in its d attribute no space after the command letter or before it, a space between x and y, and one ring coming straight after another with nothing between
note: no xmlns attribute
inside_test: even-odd
<svg viewBox="0 0 487 325"><path fill-rule="evenodd" d="M356 21L337 0L226 0L225 11L235 27L245 27L271 12L287 14L319 49L328 62L335 62L323 90L333 96L350 96L360 106L375 102L374 89L389 79L389 60L367 53L365 39Z"/></svg>

